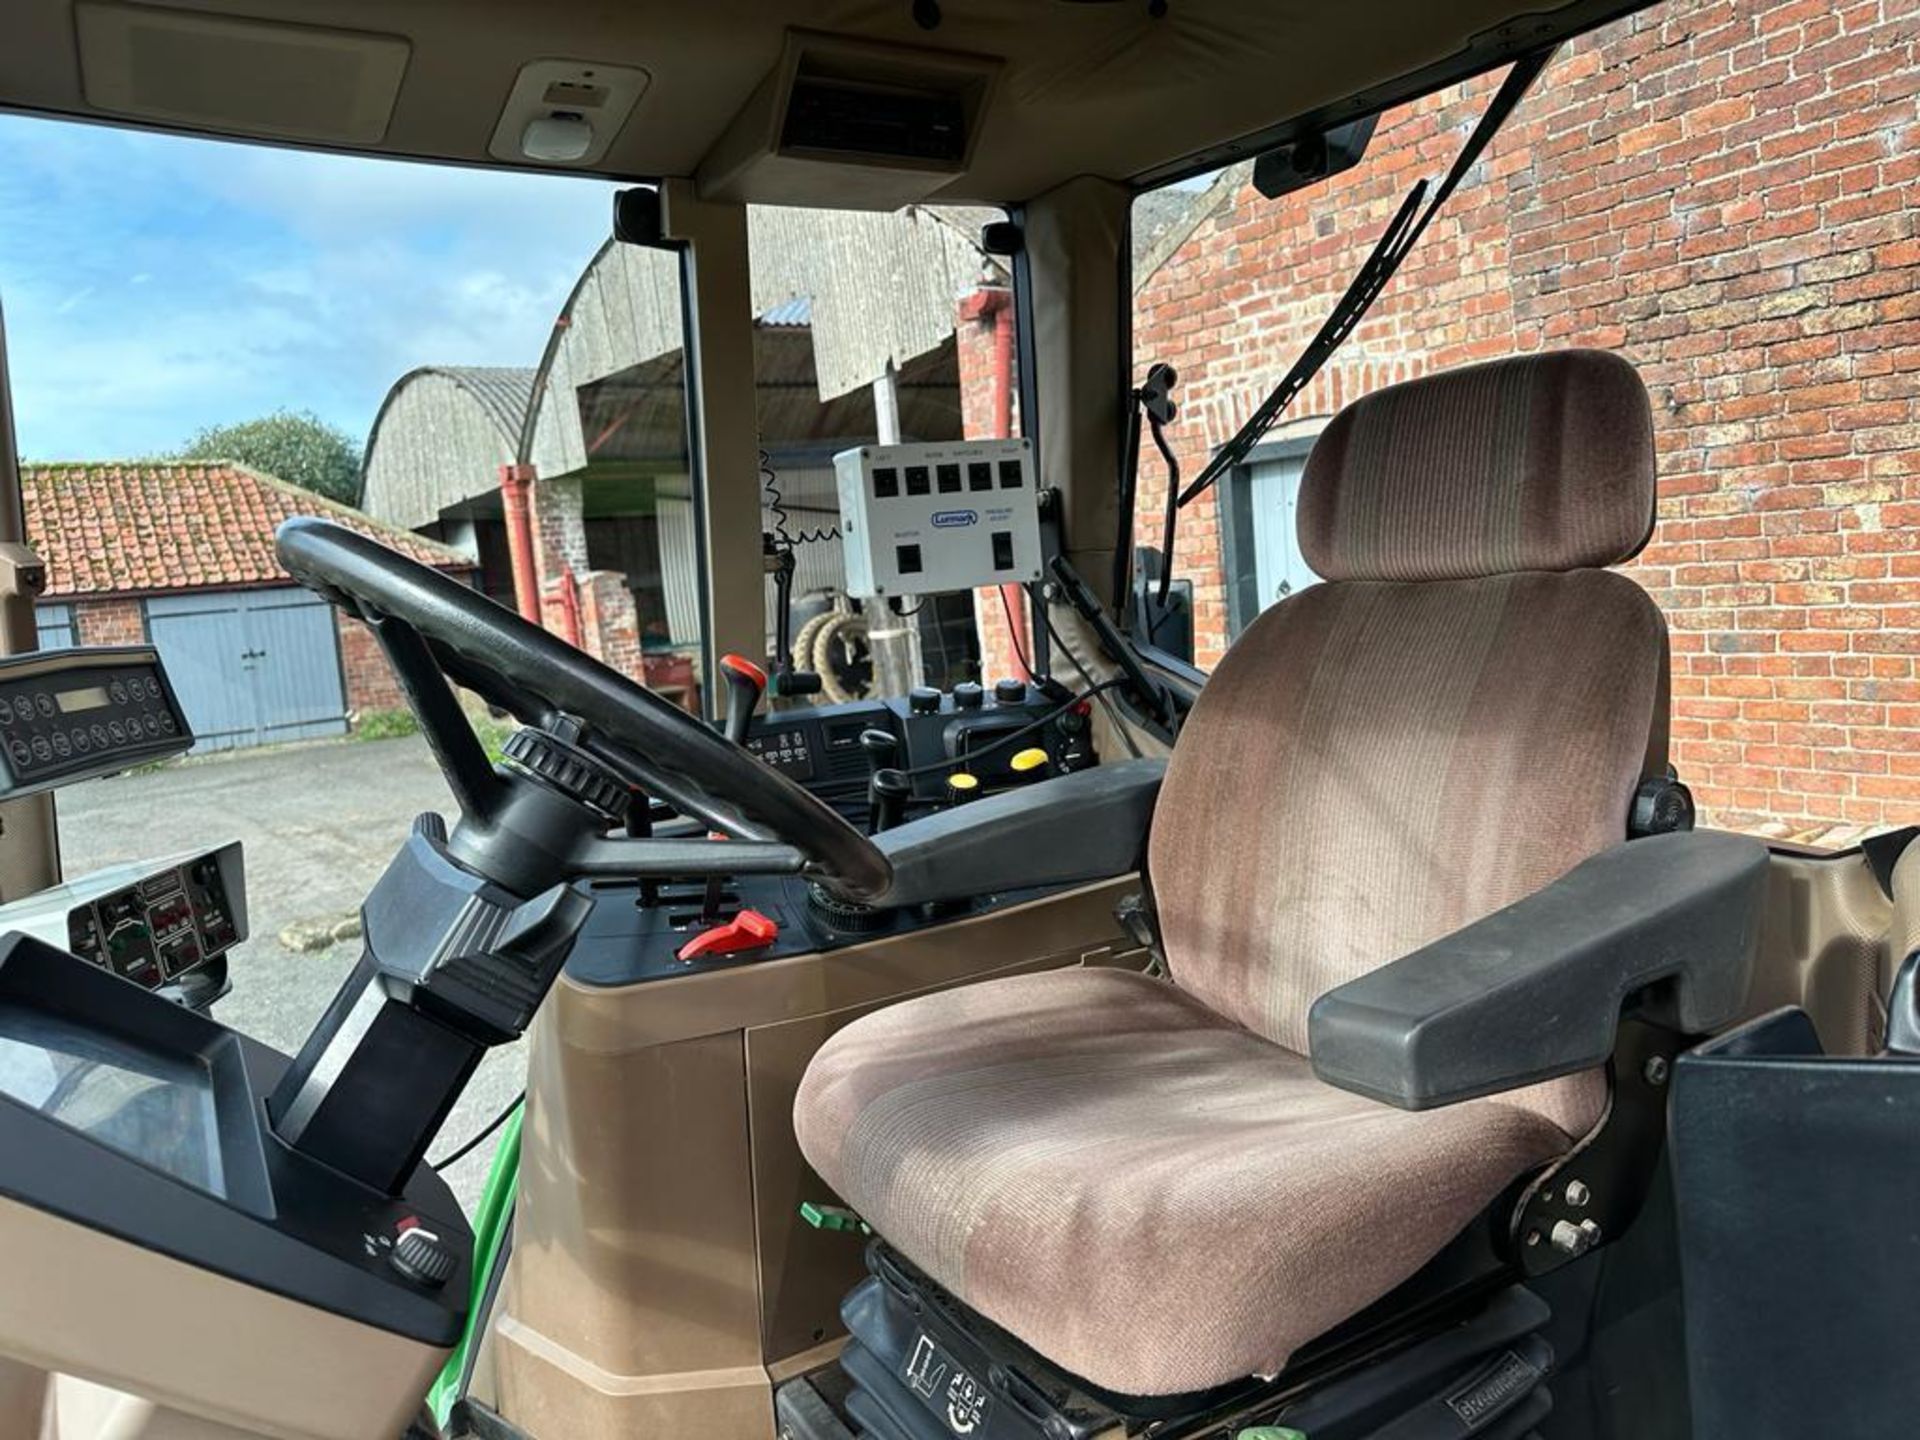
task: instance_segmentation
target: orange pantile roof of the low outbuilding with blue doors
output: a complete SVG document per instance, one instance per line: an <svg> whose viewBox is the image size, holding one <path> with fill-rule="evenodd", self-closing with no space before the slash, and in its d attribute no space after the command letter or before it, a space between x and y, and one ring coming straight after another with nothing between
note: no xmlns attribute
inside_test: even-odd
<svg viewBox="0 0 1920 1440"><path fill-rule="evenodd" d="M21 490L48 599L290 584L273 532L294 515L342 520L444 570L472 568L455 549L230 461L23 465Z"/></svg>

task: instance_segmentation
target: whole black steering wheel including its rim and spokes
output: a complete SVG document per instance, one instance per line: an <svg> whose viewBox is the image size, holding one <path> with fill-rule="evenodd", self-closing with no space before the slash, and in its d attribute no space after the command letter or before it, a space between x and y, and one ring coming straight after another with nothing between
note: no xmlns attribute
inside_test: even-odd
<svg viewBox="0 0 1920 1440"><path fill-rule="evenodd" d="M294 516L275 543L294 580L374 628L455 801L482 828L499 781L447 680L522 724L564 728L630 785L732 837L591 841L582 874L801 872L851 900L893 883L874 841L806 789L480 591L334 520Z"/></svg>

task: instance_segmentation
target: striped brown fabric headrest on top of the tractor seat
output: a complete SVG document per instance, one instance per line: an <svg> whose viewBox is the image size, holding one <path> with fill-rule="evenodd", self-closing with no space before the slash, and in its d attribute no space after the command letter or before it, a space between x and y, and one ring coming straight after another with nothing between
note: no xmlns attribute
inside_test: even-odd
<svg viewBox="0 0 1920 1440"><path fill-rule="evenodd" d="M1446 371L1332 417L1300 480L1325 580L1465 580L1632 559L1653 532L1653 409L1601 349Z"/></svg>

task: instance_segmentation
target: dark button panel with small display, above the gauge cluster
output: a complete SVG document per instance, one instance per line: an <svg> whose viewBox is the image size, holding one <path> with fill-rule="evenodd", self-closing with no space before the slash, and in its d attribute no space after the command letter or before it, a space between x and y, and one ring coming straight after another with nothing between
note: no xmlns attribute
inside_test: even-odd
<svg viewBox="0 0 1920 1440"><path fill-rule="evenodd" d="M150 645L0 659L0 799L109 776L192 743Z"/></svg>

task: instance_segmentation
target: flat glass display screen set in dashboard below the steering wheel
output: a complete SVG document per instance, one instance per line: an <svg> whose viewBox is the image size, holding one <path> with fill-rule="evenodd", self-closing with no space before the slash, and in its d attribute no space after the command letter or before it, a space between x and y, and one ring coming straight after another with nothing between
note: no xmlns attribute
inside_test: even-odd
<svg viewBox="0 0 1920 1440"><path fill-rule="evenodd" d="M213 1073L194 1056L0 1000L0 1094L177 1181L227 1192Z"/></svg>

